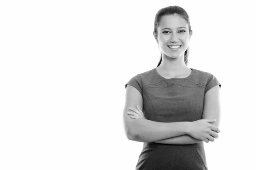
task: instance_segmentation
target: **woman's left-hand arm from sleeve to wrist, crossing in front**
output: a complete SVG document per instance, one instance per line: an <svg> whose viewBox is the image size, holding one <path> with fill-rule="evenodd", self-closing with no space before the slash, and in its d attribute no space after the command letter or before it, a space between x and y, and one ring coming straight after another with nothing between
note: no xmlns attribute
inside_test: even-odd
<svg viewBox="0 0 256 170"><path fill-rule="evenodd" d="M135 85L136 86L136 85ZM137 86L136 86L137 87ZM140 88L138 87L140 90ZM132 119L127 112L138 105L143 110L143 98L140 91L131 85L126 88L123 125L129 140L137 142L154 142L171 137L186 135L189 122L154 122L147 119Z"/></svg>

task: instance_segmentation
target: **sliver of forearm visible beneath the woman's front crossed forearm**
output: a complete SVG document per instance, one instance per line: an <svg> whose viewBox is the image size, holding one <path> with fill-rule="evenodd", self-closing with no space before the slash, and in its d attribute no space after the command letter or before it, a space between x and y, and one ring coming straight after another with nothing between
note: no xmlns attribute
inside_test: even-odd
<svg viewBox="0 0 256 170"><path fill-rule="evenodd" d="M155 143L161 143L161 144L194 144L198 142L202 142L202 141L195 139L189 135L182 135L182 136L177 136L169 139L155 141Z"/></svg>

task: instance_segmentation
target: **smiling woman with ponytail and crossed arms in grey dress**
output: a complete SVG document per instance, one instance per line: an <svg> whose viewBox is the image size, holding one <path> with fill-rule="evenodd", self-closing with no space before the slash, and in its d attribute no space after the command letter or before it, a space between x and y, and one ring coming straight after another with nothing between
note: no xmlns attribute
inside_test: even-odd
<svg viewBox="0 0 256 170"><path fill-rule="evenodd" d="M153 34L161 51L157 68L125 85L126 136L144 142L136 170L207 170L204 142L220 132L221 84L187 67L192 30L183 8L160 9Z"/></svg>

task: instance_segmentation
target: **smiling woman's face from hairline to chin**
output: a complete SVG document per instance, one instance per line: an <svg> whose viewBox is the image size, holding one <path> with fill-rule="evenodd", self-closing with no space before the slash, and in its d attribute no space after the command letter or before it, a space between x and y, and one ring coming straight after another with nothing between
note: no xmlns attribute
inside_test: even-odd
<svg viewBox="0 0 256 170"><path fill-rule="evenodd" d="M157 28L157 40L163 55L172 58L184 55L190 40L188 23L177 14L163 16Z"/></svg>

